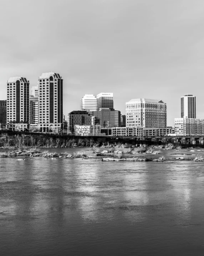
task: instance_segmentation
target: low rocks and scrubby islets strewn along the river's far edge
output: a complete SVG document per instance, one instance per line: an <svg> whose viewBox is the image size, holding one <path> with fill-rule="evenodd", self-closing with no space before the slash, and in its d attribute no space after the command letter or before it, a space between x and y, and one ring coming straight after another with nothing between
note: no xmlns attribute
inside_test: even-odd
<svg viewBox="0 0 204 256"><path fill-rule="evenodd" d="M73 154L69 153L56 153L56 152L49 152L49 151L38 151L37 148L32 149L14 149L14 150L7 150L4 152L0 152L0 158L11 158L16 156L21 156L27 159L17 159L17 160L29 160L29 157L43 157L43 158L51 158L51 159L57 159L57 158L66 158L66 159L92 159L92 160L102 160L102 161L156 161L156 162L163 162L164 160L167 160L164 158L164 156L159 158L141 158L141 157L131 157L123 154L152 154L157 155L161 154L161 150L155 150L158 149L156 147L141 147L141 148L134 148L129 147L128 150L124 150L122 147L112 147L107 150L103 150L102 152L99 151L98 148L93 147L91 150L93 151L93 154L87 155L83 151L82 152L73 152ZM171 148L166 148L173 149ZM179 146L177 151L181 151L181 147ZM193 152L194 150L189 150L190 152ZM201 151L201 150L198 150ZM195 155L195 154L192 154ZM105 158L98 158L98 156L108 156ZM195 157L195 159L190 158L184 158L184 157L177 157L177 158L170 158L169 160L193 160L193 161L204 161L204 158L202 156Z"/></svg>

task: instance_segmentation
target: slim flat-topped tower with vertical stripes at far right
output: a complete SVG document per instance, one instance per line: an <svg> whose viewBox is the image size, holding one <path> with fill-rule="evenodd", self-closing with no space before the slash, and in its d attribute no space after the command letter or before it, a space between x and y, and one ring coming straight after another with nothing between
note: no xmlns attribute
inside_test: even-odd
<svg viewBox="0 0 204 256"><path fill-rule="evenodd" d="M181 118L196 118L196 97L193 95L184 95L180 98Z"/></svg>

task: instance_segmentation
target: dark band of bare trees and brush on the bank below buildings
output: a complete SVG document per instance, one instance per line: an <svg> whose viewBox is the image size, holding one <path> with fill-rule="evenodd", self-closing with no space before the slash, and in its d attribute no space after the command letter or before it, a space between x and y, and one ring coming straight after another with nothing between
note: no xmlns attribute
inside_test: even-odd
<svg viewBox="0 0 204 256"><path fill-rule="evenodd" d="M5 134L4 136L0 137L0 149L25 149L25 148L83 148L83 147L90 147L90 148L136 148L136 143L144 144L144 147L147 147L148 144L149 148L157 148L157 149L178 149L178 148L204 148L204 144L183 144L180 142L151 142L151 141L98 141L97 138L70 138L67 136L66 138L60 137L46 137L46 136L12 136Z"/></svg>

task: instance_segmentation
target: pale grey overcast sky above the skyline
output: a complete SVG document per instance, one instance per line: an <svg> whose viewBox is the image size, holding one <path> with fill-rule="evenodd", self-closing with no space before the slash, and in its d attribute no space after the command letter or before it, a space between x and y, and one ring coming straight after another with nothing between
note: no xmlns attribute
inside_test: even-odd
<svg viewBox="0 0 204 256"><path fill-rule="evenodd" d="M167 125L180 117L180 97L197 97L204 118L202 0L6 0L0 15L0 99L6 82L30 88L45 72L63 78L63 113L85 94L113 92L125 114L132 98L167 103Z"/></svg>

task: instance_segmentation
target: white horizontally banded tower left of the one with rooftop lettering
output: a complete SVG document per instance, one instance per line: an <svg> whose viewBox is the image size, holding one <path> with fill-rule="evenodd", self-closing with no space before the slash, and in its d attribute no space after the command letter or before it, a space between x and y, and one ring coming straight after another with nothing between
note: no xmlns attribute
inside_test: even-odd
<svg viewBox="0 0 204 256"><path fill-rule="evenodd" d="M80 100L80 110L88 112L97 110L97 98L93 94L85 94Z"/></svg>

